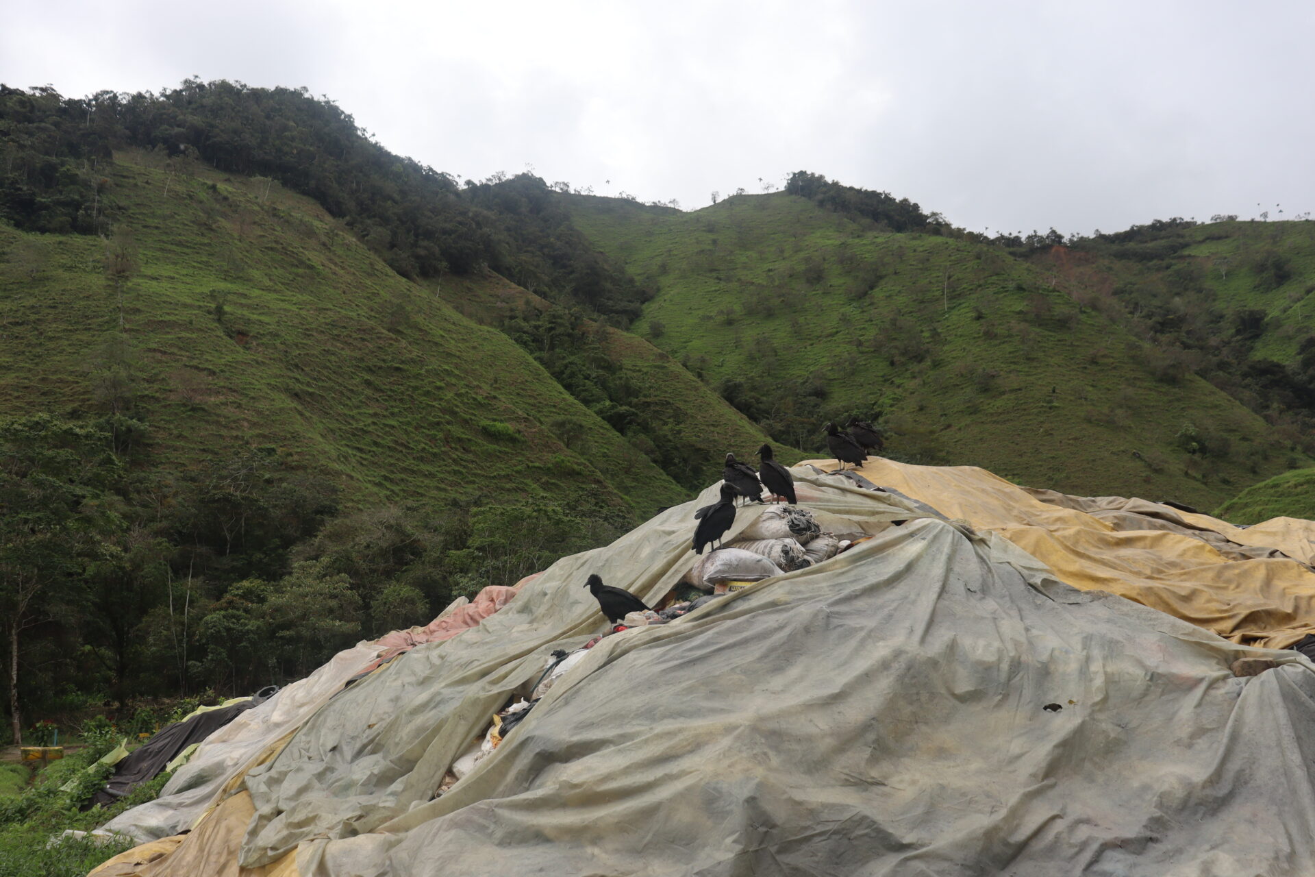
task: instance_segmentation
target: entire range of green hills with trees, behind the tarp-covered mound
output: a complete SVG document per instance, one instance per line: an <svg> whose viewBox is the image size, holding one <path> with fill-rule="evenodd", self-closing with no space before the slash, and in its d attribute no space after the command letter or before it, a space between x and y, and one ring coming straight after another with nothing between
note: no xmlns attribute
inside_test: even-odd
<svg viewBox="0 0 1315 877"><path fill-rule="evenodd" d="M1215 508L1310 464L1308 227L988 239L810 172L686 213L304 89L0 85L7 713L296 677L848 415Z"/></svg>

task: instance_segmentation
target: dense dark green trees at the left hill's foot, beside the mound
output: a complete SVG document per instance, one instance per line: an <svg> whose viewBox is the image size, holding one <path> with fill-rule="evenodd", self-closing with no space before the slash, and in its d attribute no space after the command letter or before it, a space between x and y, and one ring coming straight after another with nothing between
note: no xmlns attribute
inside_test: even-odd
<svg viewBox="0 0 1315 877"><path fill-rule="evenodd" d="M249 693L615 535L550 504L346 509L326 476L239 447L172 472L109 418L0 418L0 643L13 739L34 718ZM149 434L137 422L139 435Z"/></svg>

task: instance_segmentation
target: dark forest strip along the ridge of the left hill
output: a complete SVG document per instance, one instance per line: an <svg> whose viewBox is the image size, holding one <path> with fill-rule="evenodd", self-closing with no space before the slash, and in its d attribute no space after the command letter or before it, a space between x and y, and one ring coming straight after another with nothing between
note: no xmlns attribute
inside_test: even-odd
<svg viewBox="0 0 1315 877"><path fill-rule="evenodd" d="M103 234L114 205L99 168L120 147L262 175L318 201L402 276L489 268L567 305L627 322L644 292L576 230L539 178L459 184L389 153L305 88L185 80L84 99L0 85L0 218L33 231Z"/></svg>

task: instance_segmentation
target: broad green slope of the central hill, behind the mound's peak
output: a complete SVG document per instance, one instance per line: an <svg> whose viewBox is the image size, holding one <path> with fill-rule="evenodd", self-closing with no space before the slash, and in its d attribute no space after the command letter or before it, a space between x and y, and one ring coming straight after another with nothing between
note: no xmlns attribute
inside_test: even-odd
<svg viewBox="0 0 1315 877"><path fill-rule="evenodd" d="M1131 338L989 247L881 234L784 193L694 213L569 201L601 249L659 284L635 331L661 321L655 343L711 379L817 375L828 401L892 412L903 440L915 437L923 451L930 443L947 462L1072 493L1214 506L1293 465L1261 418L1197 377L1156 383L1128 356ZM802 279L810 259L825 263L817 284ZM886 276L868 295L847 295L871 263ZM755 297L775 301L775 313L747 314ZM1049 316L1030 313L1038 297ZM727 308L729 325L718 316ZM897 317L922 333L930 359L892 364ZM1230 458L1177 450L1189 422L1228 435Z"/></svg>

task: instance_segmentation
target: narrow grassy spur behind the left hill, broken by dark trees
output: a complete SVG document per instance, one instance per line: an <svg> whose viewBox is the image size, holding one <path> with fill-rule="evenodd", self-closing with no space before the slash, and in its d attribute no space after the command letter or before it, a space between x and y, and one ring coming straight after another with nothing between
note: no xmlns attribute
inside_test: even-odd
<svg viewBox="0 0 1315 877"><path fill-rule="evenodd" d="M441 295L454 308L485 325L496 326L506 317L530 306L539 310L548 302L498 275L443 280ZM619 329L605 329L609 358L630 381L642 388L643 396L631 406L655 414L672 433L693 447L701 448L707 460L705 480L721 477L727 451L755 462L757 447L771 439L747 417L690 375L665 351L638 335ZM792 448L780 448L778 459L802 459ZM756 463L755 463L756 464Z"/></svg>

